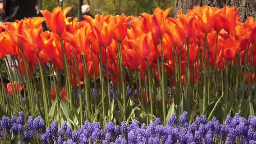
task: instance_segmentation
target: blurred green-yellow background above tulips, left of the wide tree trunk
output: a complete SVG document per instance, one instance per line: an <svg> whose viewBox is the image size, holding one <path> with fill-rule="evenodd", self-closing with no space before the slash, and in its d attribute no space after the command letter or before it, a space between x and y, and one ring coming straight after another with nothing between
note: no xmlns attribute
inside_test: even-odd
<svg viewBox="0 0 256 144"><path fill-rule="evenodd" d="M58 0L39 0L42 1L42 10L50 10L59 5ZM162 9L174 7L175 0L82 0L82 5L88 4L91 8L91 13L105 13L117 15L125 13L125 15L139 16L140 13L152 13L159 6ZM63 7L73 6L69 16L77 16L78 0L63 0ZM170 16L174 16L174 11L171 11Z"/></svg>

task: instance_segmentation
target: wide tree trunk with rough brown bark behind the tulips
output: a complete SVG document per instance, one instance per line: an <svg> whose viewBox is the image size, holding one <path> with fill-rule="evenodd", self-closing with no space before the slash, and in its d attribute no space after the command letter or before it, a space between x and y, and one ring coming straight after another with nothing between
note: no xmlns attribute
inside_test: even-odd
<svg viewBox="0 0 256 144"><path fill-rule="evenodd" d="M256 0L175 0L175 16L178 10L187 13L187 9L192 9L194 5L210 5L218 8L234 5L235 8L240 7L241 21L244 22L249 16L253 16L256 20Z"/></svg>

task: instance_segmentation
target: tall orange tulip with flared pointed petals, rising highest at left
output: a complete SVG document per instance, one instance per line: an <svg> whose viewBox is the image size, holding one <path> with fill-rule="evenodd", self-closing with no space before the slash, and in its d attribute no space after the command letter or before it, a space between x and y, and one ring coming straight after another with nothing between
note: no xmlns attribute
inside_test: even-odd
<svg viewBox="0 0 256 144"><path fill-rule="evenodd" d="M57 35L62 35L66 25L65 18L71 9L72 7L67 7L62 10L61 7L57 6L53 9L52 13L48 10L41 11L41 13L45 17L46 24L51 31Z"/></svg>

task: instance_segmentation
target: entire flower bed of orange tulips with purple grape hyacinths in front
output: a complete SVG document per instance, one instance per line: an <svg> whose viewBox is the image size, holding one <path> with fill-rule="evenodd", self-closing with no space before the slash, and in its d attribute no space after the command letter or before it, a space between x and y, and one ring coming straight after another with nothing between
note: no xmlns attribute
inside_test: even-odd
<svg viewBox="0 0 256 144"><path fill-rule="evenodd" d="M253 17L70 10L0 24L0 144L256 144Z"/></svg>

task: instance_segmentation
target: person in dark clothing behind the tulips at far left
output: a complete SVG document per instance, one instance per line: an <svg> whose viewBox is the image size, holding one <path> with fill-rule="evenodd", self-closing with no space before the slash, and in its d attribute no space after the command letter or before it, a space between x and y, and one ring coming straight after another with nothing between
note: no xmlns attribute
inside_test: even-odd
<svg viewBox="0 0 256 144"><path fill-rule="evenodd" d="M0 0L0 14L4 15L3 22L37 16L36 5L37 0Z"/></svg>

